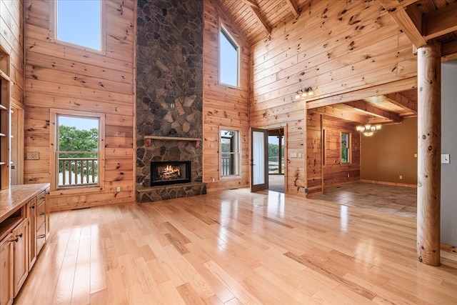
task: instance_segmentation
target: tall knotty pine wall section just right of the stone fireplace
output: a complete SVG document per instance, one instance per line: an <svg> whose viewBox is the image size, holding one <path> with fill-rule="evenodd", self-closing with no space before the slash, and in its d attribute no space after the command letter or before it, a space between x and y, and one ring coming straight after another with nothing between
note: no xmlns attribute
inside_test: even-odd
<svg viewBox="0 0 457 305"><path fill-rule="evenodd" d="M219 22L241 48L239 88L219 84ZM236 24L214 0L204 0L204 182L207 191L249 186L249 46ZM240 130L241 171L236 178L219 173L219 126ZM214 179L214 182L213 182Z"/></svg>

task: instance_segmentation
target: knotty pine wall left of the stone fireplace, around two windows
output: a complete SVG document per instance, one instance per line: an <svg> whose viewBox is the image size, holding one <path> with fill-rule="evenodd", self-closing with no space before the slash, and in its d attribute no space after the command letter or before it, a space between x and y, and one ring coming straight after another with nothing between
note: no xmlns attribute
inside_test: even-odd
<svg viewBox="0 0 457 305"><path fill-rule="evenodd" d="M26 21L24 183L50 182L49 109L105 114L104 188L51 190L52 210L133 200L135 1L106 0L103 52L56 42L54 1L24 0ZM121 191L116 192L120 186Z"/></svg>

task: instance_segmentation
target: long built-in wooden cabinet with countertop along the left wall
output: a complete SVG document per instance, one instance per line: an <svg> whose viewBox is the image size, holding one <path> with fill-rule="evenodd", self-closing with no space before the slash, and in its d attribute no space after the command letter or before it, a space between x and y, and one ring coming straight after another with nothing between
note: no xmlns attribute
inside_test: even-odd
<svg viewBox="0 0 457 305"><path fill-rule="evenodd" d="M0 191L0 304L12 304L49 236L49 184Z"/></svg>

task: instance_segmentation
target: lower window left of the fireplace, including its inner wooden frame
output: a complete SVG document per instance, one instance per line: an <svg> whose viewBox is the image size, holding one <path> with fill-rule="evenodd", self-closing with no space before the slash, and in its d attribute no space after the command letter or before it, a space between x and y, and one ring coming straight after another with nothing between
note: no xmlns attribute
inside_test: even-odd
<svg viewBox="0 0 457 305"><path fill-rule="evenodd" d="M54 111L54 188L102 187L104 115ZM51 113L51 117L53 117ZM51 125L52 126L52 125Z"/></svg>

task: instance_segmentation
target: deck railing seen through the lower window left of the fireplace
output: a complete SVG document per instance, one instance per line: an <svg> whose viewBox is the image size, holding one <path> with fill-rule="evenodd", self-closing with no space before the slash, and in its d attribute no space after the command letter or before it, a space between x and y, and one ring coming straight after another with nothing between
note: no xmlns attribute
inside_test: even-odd
<svg viewBox="0 0 457 305"><path fill-rule="evenodd" d="M90 154L87 151L58 151L59 154ZM67 186L91 186L98 184L98 158L71 158L58 157L59 160L59 187Z"/></svg>

